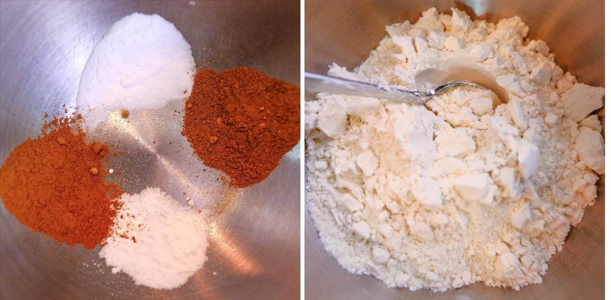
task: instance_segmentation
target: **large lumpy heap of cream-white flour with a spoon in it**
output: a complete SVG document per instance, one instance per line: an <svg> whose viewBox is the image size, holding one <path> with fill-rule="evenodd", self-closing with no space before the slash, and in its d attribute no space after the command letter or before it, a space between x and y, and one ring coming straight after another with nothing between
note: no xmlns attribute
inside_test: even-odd
<svg viewBox="0 0 611 300"><path fill-rule="evenodd" d="M482 281L541 282L551 255L596 200L604 173L603 88L577 83L515 16L497 24L426 10L353 72L415 88L414 75L461 58L507 90L444 91L424 106L319 94L305 105L307 203L321 241L351 273L443 291Z"/></svg>

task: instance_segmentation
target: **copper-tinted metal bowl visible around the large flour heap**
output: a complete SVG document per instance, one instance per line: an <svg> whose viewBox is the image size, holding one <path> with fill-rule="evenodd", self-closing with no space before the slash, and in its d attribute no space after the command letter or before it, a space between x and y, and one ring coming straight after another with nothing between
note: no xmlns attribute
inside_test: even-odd
<svg viewBox="0 0 611 300"><path fill-rule="evenodd" d="M305 1L305 70L326 73L332 62L352 70L386 35L384 26L412 24L435 6L444 13L458 7L472 18L498 21L521 16L530 38L547 41L565 70L586 84L604 85L604 3L569 1ZM313 99L306 95L305 100ZM343 270L318 240L305 210L305 296L309 299L598 299L604 295L604 179L598 201L549 262L543 283L520 291L479 283L444 293L387 288L371 276ZM307 205L306 205L307 207Z"/></svg>

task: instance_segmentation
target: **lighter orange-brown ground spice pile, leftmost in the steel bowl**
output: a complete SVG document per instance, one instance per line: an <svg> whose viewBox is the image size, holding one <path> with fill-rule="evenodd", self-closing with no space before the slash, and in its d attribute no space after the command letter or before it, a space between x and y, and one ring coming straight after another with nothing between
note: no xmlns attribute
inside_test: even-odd
<svg viewBox="0 0 611 300"><path fill-rule="evenodd" d="M76 119L45 124L40 137L13 149L0 168L4 207L34 231L94 248L110 235L114 199L123 193L90 173L104 170L106 147L100 145L86 143Z"/></svg>

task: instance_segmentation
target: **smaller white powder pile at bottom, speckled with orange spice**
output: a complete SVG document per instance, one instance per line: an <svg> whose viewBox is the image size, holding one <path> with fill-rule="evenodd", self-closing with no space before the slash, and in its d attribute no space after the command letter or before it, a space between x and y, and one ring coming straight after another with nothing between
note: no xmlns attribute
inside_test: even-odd
<svg viewBox="0 0 611 300"><path fill-rule="evenodd" d="M205 212L181 206L159 188L120 201L115 232L100 257L113 273L126 273L139 285L171 289L185 284L207 260Z"/></svg>

